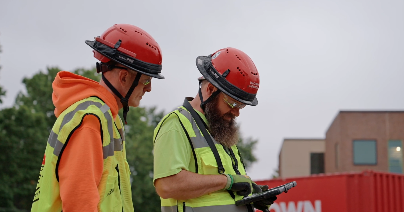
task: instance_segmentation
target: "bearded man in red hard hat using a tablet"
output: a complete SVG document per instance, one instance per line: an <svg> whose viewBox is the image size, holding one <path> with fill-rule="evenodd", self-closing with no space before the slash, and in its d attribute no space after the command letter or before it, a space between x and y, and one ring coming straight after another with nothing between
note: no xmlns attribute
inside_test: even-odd
<svg viewBox="0 0 404 212"><path fill-rule="evenodd" d="M202 74L198 95L185 98L154 131L154 185L162 212L252 212L252 204L235 201L268 186L246 175L236 146L236 117L246 105L258 104L257 68L231 47L199 56L196 66ZM253 206L268 211L275 200Z"/></svg>

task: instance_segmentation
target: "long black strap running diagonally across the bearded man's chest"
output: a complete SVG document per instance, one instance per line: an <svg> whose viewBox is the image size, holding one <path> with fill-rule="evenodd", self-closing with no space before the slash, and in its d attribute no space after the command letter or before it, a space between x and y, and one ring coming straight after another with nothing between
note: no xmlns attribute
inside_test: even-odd
<svg viewBox="0 0 404 212"><path fill-rule="evenodd" d="M185 99L183 107L185 107L185 109L187 109L187 111L189 113L191 113L191 115L194 118L196 124L198 125L200 131L202 132L202 135L204 136L206 142L208 143L210 150L212 150L213 156L215 156L216 163L217 163L217 172L219 172L219 174L225 173L225 168L223 167L219 152L217 152L217 148L216 148L215 144L213 143L212 138L210 138L210 134L208 133L208 130L206 130L202 119L200 119L200 117L198 116L198 113L196 113L196 111L191 106L191 104L189 104L187 99Z"/></svg>

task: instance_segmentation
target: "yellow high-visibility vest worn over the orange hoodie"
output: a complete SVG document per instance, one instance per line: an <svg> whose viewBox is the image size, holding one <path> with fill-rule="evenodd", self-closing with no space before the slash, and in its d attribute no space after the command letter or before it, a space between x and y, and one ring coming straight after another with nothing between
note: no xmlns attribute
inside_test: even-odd
<svg viewBox="0 0 404 212"><path fill-rule="evenodd" d="M101 125L104 158L103 174L98 185L99 212L133 212L130 189L130 169L126 161L125 132L119 115L112 120L108 105L97 97L80 100L61 113L53 125L46 144L32 212L58 212L62 210L59 192L59 158L75 130L86 115L96 116ZM119 170L119 174L118 171Z"/></svg>

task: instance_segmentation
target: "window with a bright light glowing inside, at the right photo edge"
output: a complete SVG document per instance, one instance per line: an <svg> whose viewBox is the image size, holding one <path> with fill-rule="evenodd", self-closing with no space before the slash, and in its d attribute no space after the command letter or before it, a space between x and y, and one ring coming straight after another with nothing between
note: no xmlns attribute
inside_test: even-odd
<svg viewBox="0 0 404 212"><path fill-rule="evenodd" d="M400 140L389 141L389 171L403 173L403 146Z"/></svg>

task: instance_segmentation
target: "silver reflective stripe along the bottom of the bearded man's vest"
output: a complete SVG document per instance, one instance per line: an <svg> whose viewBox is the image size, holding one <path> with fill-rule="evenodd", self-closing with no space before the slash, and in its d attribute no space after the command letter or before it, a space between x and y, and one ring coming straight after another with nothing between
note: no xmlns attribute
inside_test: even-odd
<svg viewBox="0 0 404 212"><path fill-rule="evenodd" d="M182 207L179 206L179 207ZM177 212L177 206L162 206L161 212ZM191 208L185 206L185 212L248 212L246 206L220 205L220 206L202 206Z"/></svg>

